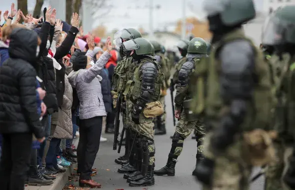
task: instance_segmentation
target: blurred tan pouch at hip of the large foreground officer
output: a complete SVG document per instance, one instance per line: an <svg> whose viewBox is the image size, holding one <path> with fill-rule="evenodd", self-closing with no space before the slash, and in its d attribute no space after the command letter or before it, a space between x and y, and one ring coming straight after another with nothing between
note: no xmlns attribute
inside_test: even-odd
<svg viewBox="0 0 295 190"><path fill-rule="evenodd" d="M277 136L276 131L254 129L243 133L243 154L248 164L261 166L276 160L272 139Z"/></svg>

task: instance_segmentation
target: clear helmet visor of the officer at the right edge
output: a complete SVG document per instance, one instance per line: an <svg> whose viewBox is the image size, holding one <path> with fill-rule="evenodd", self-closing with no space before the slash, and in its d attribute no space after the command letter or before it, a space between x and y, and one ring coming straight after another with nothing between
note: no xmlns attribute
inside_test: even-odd
<svg viewBox="0 0 295 190"><path fill-rule="evenodd" d="M278 45L285 42L286 25L277 17L269 17L262 28L262 44Z"/></svg>

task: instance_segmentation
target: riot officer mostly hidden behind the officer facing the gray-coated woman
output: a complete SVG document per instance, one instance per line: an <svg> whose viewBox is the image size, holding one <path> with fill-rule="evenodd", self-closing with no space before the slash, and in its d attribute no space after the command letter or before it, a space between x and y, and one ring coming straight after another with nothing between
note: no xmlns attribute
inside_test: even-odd
<svg viewBox="0 0 295 190"><path fill-rule="evenodd" d="M164 55L163 53L163 45L161 45L159 42L151 40L150 41L155 49L155 58L159 62L159 65L161 66L161 72L164 73L164 82L162 84L162 90L161 90L161 96L160 96L160 102L165 107L165 95L167 94L166 90L168 87L169 77L170 77L170 67L169 67L169 59ZM166 110L164 113L160 116L157 116L155 118L155 135L163 135L166 134Z"/></svg>

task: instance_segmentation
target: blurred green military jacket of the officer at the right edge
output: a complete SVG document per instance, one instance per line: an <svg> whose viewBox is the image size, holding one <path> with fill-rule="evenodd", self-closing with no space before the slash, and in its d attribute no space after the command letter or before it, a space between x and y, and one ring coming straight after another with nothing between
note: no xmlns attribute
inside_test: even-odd
<svg viewBox="0 0 295 190"><path fill-rule="evenodd" d="M274 73L277 98L274 129L280 139L291 142L295 134L295 55L271 55L268 62Z"/></svg>

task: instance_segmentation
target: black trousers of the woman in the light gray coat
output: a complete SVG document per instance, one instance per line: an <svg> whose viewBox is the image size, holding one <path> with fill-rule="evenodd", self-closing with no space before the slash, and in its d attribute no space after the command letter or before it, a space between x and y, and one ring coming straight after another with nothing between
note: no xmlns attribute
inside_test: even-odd
<svg viewBox="0 0 295 190"><path fill-rule="evenodd" d="M99 149L102 116L80 119L80 138L77 147L78 172L80 179L91 179L92 166Z"/></svg>

